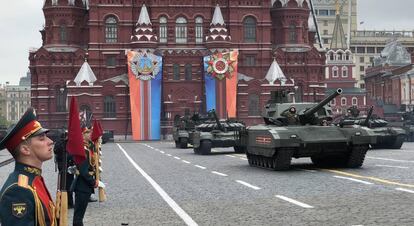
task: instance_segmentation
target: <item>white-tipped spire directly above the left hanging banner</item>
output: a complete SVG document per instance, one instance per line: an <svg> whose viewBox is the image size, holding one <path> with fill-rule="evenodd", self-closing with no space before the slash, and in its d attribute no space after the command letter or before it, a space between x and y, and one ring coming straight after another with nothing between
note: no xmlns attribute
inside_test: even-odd
<svg viewBox="0 0 414 226"><path fill-rule="evenodd" d="M132 43L156 43L158 40L152 29L152 23L145 4L141 7L138 22L135 24L134 35L131 36ZM147 46L150 47L150 46Z"/></svg>

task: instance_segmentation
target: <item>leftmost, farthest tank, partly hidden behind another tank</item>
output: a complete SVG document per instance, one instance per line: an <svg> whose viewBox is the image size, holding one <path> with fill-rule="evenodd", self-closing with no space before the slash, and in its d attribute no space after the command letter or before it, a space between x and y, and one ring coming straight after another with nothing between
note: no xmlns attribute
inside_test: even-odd
<svg viewBox="0 0 414 226"><path fill-rule="evenodd" d="M193 144L193 133L196 125L209 120L209 117L202 117L195 112L190 115L188 111L184 116L176 115L174 117L173 138L176 148L187 148L188 144Z"/></svg>

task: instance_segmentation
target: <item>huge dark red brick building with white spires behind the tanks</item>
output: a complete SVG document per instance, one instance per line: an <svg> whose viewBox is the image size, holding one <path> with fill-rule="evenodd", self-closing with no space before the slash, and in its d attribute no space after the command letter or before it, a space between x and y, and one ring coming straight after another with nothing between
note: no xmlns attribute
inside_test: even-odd
<svg viewBox="0 0 414 226"><path fill-rule="evenodd" d="M282 86L266 76L274 60L296 101L325 96L325 53L314 47L316 29L307 0L46 0L43 12L43 44L29 59L32 105L48 128L67 125L68 101L75 96L80 109L115 136L132 134L135 112L144 121L156 112L156 133L162 139L174 116L186 109L204 113L215 106L221 118L231 116L228 92L235 97L238 119L262 123L270 91ZM229 65L220 58L228 53ZM130 54L149 58L134 63ZM217 81L227 81L223 89L209 86L208 56L219 57L213 73ZM85 62L96 81L75 83ZM154 72L151 62L159 66L159 85L143 85L132 95L136 82L131 83L131 72ZM228 77L225 70L231 72ZM156 75L137 79L151 76ZM226 80L232 76L234 89ZM133 96L159 100L153 108L145 100L131 106ZM140 127L151 127L145 123Z"/></svg>

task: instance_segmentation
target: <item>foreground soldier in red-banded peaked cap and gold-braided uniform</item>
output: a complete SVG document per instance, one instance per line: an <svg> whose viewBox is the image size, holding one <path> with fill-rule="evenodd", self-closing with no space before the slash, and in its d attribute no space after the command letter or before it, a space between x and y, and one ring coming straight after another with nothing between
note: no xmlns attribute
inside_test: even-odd
<svg viewBox="0 0 414 226"><path fill-rule="evenodd" d="M0 191L0 225L57 225L55 205L42 177L43 162L53 157L49 130L29 108L0 142L16 161Z"/></svg>

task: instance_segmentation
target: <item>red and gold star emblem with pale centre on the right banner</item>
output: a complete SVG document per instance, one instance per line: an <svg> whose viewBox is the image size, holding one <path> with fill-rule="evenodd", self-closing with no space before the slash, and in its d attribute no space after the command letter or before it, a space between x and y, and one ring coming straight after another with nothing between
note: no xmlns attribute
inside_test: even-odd
<svg viewBox="0 0 414 226"><path fill-rule="evenodd" d="M208 61L207 73L220 80L224 78L231 78L234 72L234 63L230 53L213 54Z"/></svg>

